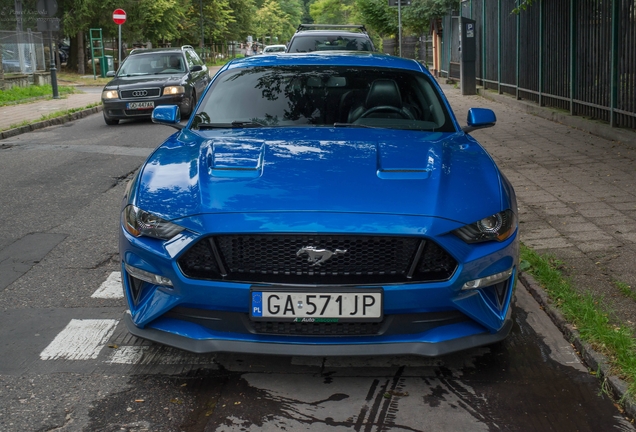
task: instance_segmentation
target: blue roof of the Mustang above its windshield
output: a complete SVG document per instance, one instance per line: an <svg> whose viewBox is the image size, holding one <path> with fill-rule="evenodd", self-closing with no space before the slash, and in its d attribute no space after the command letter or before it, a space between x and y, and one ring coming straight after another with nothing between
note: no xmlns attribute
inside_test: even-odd
<svg viewBox="0 0 636 432"><path fill-rule="evenodd" d="M258 66L354 66L408 69L430 75L416 60L371 51L314 51L311 53L271 53L229 62L222 70Z"/></svg>

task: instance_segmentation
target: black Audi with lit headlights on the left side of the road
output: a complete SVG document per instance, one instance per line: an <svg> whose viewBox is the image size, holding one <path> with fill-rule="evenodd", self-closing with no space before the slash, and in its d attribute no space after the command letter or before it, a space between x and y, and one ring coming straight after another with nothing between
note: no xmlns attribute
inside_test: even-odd
<svg viewBox="0 0 636 432"><path fill-rule="evenodd" d="M159 105L178 105L188 117L210 82L208 67L190 45L134 49L102 91L104 121L150 118Z"/></svg>

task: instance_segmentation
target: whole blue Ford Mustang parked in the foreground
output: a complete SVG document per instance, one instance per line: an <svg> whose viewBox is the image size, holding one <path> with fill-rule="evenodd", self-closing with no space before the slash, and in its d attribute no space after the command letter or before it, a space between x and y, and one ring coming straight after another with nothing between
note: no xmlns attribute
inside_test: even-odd
<svg viewBox="0 0 636 432"><path fill-rule="evenodd" d="M436 356L504 339L517 203L418 62L233 61L129 183L129 331L193 352Z"/></svg>

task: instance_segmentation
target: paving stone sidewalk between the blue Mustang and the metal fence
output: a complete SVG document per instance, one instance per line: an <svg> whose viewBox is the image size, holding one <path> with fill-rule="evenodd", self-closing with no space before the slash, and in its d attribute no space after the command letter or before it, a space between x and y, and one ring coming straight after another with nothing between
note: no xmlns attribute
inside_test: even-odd
<svg viewBox="0 0 636 432"><path fill-rule="evenodd" d="M603 296L636 328L636 301L615 285L636 292L636 133L562 116L614 140L607 139L529 114L541 109L509 96L462 96L441 86L461 125L468 108L495 111L497 125L472 135L515 187L521 241L562 260L577 290Z"/></svg>

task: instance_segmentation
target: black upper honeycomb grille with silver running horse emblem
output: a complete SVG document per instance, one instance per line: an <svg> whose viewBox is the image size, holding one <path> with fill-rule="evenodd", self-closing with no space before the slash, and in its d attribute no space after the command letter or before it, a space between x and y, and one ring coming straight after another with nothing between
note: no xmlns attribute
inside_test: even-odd
<svg viewBox="0 0 636 432"><path fill-rule="evenodd" d="M337 253L312 265L308 247ZM207 237L178 263L193 279L337 285L447 280L457 267L436 243L415 237L287 234Z"/></svg>

